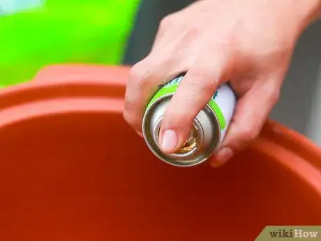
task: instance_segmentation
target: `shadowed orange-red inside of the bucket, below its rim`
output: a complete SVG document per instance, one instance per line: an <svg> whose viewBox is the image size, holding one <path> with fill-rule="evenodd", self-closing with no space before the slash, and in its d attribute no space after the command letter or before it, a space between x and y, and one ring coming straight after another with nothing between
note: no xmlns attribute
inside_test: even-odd
<svg viewBox="0 0 321 241"><path fill-rule="evenodd" d="M320 224L320 197L259 150L173 167L120 112L24 119L0 146L0 240L254 240L268 224Z"/></svg>

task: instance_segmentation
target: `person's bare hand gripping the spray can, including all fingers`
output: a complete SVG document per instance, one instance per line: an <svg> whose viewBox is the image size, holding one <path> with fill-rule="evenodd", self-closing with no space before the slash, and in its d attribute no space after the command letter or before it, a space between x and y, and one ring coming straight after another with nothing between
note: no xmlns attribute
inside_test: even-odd
<svg viewBox="0 0 321 241"><path fill-rule="evenodd" d="M133 66L124 118L141 136L159 85L187 72L160 128L160 149L175 152L216 88L230 80L239 97L227 136L211 160L226 163L260 133L278 101L297 39L321 0L202 0L165 17L149 55Z"/></svg>

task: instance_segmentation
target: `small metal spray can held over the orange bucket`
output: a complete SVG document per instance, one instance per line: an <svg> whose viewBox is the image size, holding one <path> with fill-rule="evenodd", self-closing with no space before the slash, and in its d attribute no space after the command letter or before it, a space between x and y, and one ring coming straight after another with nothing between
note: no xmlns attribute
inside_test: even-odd
<svg viewBox="0 0 321 241"><path fill-rule="evenodd" d="M142 132L147 146L160 160L173 166L195 166L209 159L223 142L237 98L228 83L218 87L209 103L195 117L184 146L175 153L165 154L158 147L160 123L182 80L184 75L167 82L151 98L144 113Z"/></svg>

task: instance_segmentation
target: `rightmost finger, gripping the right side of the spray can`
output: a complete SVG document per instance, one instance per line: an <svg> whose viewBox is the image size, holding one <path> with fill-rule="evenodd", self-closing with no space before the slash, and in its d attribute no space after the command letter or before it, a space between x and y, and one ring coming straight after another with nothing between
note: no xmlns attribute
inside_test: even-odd
<svg viewBox="0 0 321 241"><path fill-rule="evenodd" d="M278 101L279 81L256 82L249 92L239 99L230 129L223 145L211 161L211 166L225 164L234 153L244 149L259 135L269 112Z"/></svg>

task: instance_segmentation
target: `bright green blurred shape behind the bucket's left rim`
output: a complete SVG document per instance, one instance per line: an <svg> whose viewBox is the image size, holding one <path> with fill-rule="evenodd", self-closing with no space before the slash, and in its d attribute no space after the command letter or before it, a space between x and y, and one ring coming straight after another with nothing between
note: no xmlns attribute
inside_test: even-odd
<svg viewBox="0 0 321 241"><path fill-rule="evenodd" d="M30 80L48 64L120 64L139 2L47 0L0 15L0 85Z"/></svg>

